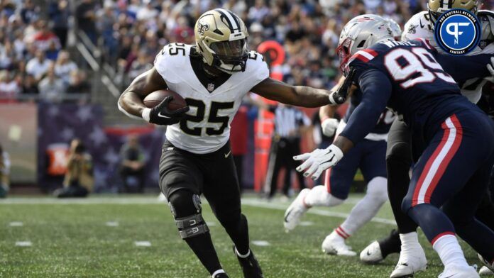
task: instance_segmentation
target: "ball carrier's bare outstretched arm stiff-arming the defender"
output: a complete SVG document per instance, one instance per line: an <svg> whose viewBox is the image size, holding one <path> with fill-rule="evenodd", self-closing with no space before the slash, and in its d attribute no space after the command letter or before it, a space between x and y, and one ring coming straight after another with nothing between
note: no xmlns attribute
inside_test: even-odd
<svg viewBox="0 0 494 278"><path fill-rule="evenodd" d="M331 104L331 91L306 86L291 86L285 82L267 78L254 86L251 91L273 101L302 107L319 107Z"/></svg>

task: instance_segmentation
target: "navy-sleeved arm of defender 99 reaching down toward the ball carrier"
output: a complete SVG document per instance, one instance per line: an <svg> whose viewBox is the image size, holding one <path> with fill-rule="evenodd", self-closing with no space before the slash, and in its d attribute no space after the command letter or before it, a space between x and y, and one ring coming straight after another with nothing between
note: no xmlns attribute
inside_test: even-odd
<svg viewBox="0 0 494 278"><path fill-rule="evenodd" d="M391 96L391 82L379 70L366 70L358 78L362 101L351 114L341 136L353 144L362 140L378 122Z"/></svg>

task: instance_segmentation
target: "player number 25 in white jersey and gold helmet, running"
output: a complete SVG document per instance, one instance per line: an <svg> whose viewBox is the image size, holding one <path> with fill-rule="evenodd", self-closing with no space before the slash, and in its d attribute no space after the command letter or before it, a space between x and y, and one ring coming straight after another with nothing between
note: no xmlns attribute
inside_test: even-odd
<svg viewBox="0 0 494 278"><path fill-rule="evenodd" d="M263 277L249 248L247 218L241 213L230 123L248 91L305 107L330 104L330 91L270 79L263 56L247 49L245 24L231 11L207 11L197 20L194 33L195 45L171 43L163 48L154 67L133 80L121 95L119 109L168 126L160 160L160 189L180 236L212 277L228 276L201 215L201 194L234 242L244 277ZM169 111L170 97L153 109L146 108L143 99L162 89L180 94L190 110Z"/></svg>

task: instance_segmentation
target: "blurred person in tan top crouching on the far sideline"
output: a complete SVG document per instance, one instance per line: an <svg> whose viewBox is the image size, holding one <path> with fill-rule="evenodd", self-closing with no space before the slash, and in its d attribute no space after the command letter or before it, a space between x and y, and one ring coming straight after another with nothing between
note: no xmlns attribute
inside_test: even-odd
<svg viewBox="0 0 494 278"><path fill-rule="evenodd" d="M92 157L81 140L73 139L67 158L67 172L63 188L53 192L57 198L85 197L94 185Z"/></svg>

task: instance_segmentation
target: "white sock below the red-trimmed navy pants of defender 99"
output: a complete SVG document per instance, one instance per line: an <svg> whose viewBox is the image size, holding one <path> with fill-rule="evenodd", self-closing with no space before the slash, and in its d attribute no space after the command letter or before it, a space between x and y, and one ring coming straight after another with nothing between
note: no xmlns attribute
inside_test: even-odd
<svg viewBox="0 0 494 278"><path fill-rule="evenodd" d="M432 248L439 254L445 268L451 265L468 267L468 262L465 260L465 255L455 235L441 235L432 243Z"/></svg>

